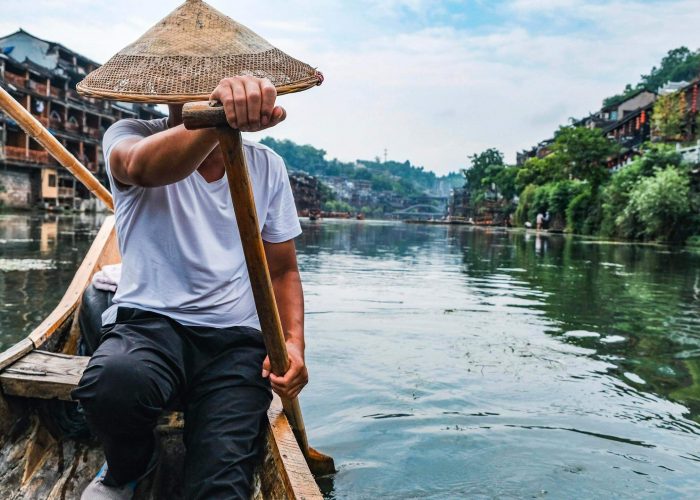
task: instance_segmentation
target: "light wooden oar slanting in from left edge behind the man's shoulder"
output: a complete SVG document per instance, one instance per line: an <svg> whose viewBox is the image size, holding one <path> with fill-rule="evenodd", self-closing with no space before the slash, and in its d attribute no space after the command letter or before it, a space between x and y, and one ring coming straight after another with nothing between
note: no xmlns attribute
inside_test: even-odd
<svg viewBox="0 0 700 500"><path fill-rule="evenodd" d="M66 167L86 188L88 188L97 198L102 201L107 208L114 211L114 201L112 195L100 184L92 172L80 163L58 140L51 135L46 127L32 114L22 107L5 89L0 87L0 108L11 116L19 126L39 144L46 148L51 156L56 158L58 163Z"/></svg>

